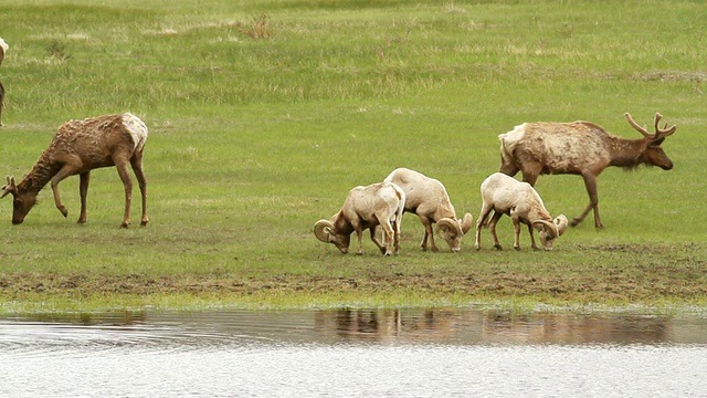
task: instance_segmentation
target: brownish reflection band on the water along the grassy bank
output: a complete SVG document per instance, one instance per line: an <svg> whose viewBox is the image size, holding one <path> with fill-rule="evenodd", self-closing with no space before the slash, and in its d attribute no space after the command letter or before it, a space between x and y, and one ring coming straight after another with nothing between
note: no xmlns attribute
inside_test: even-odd
<svg viewBox="0 0 707 398"><path fill-rule="evenodd" d="M518 315L468 310L120 312L0 320L0 348L22 345L707 344L707 320Z"/></svg>

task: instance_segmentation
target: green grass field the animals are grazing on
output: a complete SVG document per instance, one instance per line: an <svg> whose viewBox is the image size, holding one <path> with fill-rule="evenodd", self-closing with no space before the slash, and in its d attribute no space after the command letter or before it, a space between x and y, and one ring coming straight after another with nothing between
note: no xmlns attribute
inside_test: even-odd
<svg viewBox="0 0 707 398"><path fill-rule="evenodd" d="M0 172L20 179L72 118L133 112L150 224L118 229L115 169L51 189L21 226L0 201L0 313L115 308L707 304L707 21L700 1L6 0ZM591 219L552 252L341 255L312 227L348 190L409 167L442 180L458 216L499 166L497 135L588 119L639 138L631 112L677 133L671 171L609 168L605 230ZM4 178L3 178L4 180ZM588 198L580 177L536 185L555 216ZM498 227L510 249L513 228ZM354 237L355 238L355 237ZM355 243L355 239L352 239ZM443 242L442 242L443 243ZM443 243L444 244L444 243ZM672 311L672 310L671 310Z"/></svg>

